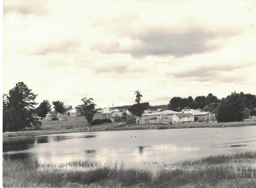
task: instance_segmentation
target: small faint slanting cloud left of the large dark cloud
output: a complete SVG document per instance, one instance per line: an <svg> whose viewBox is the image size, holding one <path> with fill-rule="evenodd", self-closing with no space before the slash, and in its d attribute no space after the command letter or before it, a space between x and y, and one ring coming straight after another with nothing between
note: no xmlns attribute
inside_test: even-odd
<svg viewBox="0 0 256 188"><path fill-rule="evenodd" d="M41 46L32 52L30 55L47 55L47 54L68 54L76 52L77 48L81 46L81 41L78 39L65 40L61 42L56 42L54 44L48 44Z"/></svg>

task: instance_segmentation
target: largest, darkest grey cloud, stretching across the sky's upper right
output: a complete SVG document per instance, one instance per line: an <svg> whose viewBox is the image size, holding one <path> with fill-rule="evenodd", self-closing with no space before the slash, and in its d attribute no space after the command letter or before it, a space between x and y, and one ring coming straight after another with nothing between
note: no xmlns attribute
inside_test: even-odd
<svg viewBox="0 0 256 188"><path fill-rule="evenodd" d="M123 47L120 42L110 44L94 44L91 49L102 53L129 53L134 57L147 55L154 56L187 56L205 53L218 49L219 43L215 40L222 37L231 37L232 31L211 31L202 28L175 29L171 26L145 27L140 32L133 31L128 37L133 41L129 48ZM127 36L126 36L127 37Z"/></svg>

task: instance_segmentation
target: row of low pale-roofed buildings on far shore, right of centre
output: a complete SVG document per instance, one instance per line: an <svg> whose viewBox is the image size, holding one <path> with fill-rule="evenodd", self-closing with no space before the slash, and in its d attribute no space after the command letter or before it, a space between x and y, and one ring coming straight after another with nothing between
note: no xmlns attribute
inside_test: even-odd
<svg viewBox="0 0 256 188"><path fill-rule="evenodd" d="M136 118L137 124L188 124L191 122L217 122L215 114L202 110L182 110L176 112L172 110L159 110L157 112L147 112Z"/></svg>

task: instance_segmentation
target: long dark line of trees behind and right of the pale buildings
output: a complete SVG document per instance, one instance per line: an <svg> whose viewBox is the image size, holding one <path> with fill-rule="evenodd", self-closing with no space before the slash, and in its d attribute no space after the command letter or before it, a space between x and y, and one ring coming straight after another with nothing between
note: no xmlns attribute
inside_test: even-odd
<svg viewBox="0 0 256 188"><path fill-rule="evenodd" d="M173 97L168 104L169 110L181 111L182 109L201 109L216 114L218 121L241 121L256 115L256 96L250 93L232 92L231 95L218 99L209 93L208 96L197 96L193 99Z"/></svg>

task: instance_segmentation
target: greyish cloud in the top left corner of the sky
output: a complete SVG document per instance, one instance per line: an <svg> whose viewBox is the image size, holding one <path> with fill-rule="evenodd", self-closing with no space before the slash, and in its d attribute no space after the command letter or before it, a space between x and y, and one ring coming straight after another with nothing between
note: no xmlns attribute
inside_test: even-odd
<svg viewBox="0 0 256 188"><path fill-rule="evenodd" d="M17 2L16 2L17 3ZM45 2L40 1L22 1L19 3L13 3L13 1L4 1L3 13L16 13L18 15L28 16L44 16L49 14L49 10L45 6Z"/></svg>

